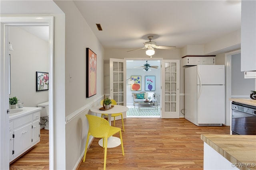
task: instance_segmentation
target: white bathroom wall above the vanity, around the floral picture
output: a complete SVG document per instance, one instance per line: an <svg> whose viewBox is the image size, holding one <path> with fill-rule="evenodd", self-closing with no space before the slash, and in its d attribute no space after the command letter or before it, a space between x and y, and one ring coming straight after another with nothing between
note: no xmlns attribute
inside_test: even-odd
<svg viewBox="0 0 256 170"><path fill-rule="evenodd" d="M36 92L36 71L48 72L48 42L20 27L10 27L11 94L24 107L37 107L48 101L48 90Z"/></svg>

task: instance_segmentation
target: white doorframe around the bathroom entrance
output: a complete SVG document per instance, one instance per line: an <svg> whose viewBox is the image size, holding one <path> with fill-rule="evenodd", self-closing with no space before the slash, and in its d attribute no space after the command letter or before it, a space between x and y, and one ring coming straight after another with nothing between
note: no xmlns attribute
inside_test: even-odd
<svg viewBox="0 0 256 170"><path fill-rule="evenodd" d="M42 16L42 17L0 17L1 18L1 61L0 61L0 70L1 77L4 78L5 81L0 82L0 111L1 113L5 113L7 109L9 109L9 66L8 66L8 57L9 57L9 26L41 26L48 25L49 26L49 168L54 169L54 116L53 116L53 43L54 43L54 17L53 16ZM1 78L1 79L3 79ZM4 95L2 95L4 94ZM7 116L6 116L7 115ZM9 115L8 114L0 114L0 169L9 169ZM3 125L3 126L2 126Z"/></svg>

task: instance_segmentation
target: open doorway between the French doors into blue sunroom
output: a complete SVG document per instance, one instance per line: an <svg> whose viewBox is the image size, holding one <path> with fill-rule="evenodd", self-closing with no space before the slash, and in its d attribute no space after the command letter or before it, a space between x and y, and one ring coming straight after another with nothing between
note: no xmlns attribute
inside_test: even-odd
<svg viewBox="0 0 256 170"><path fill-rule="evenodd" d="M148 70L144 69L144 64L150 64ZM132 84L126 84L126 106L129 107L127 117L159 117L160 118L160 94L161 94L161 60L148 59L127 59L126 60L126 79L139 76L140 89L132 89ZM149 82L150 81L150 82ZM150 90L146 85L152 85ZM144 104L143 108L138 109L138 104L134 106L132 93L150 92L155 94L157 104ZM156 107L157 106L157 107Z"/></svg>

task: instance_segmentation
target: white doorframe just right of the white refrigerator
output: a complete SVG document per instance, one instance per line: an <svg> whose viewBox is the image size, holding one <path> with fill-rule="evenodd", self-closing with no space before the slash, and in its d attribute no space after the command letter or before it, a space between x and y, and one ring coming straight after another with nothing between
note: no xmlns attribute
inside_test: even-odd
<svg viewBox="0 0 256 170"><path fill-rule="evenodd" d="M232 55L241 53L241 50L231 51L225 53L225 67L226 67L226 126L231 125L231 108L230 108L230 98L231 98L231 58Z"/></svg>

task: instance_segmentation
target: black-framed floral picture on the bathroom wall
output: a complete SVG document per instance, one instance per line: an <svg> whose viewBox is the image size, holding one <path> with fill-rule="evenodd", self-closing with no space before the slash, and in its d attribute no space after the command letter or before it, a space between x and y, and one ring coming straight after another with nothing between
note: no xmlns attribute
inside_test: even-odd
<svg viewBox="0 0 256 170"><path fill-rule="evenodd" d="M49 73L36 71L36 92L49 90Z"/></svg>

